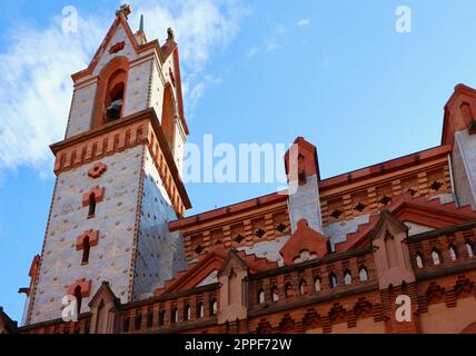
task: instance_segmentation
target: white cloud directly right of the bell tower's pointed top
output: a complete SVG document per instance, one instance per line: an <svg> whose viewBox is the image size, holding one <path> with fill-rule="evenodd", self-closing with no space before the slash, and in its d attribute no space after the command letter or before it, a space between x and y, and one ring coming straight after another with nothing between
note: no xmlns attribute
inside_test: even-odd
<svg viewBox="0 0 476 356"><path fill-rule="evenodd" d="M171 27L179 46L182 86L188 119L204 95L206 86L216 83L206 80L202 71L239 32L241 19L248 10L239 0L175 0L132 1L136 8L131 23L145 16L148 39L158 38L162 43L167 28Z"/></svg>

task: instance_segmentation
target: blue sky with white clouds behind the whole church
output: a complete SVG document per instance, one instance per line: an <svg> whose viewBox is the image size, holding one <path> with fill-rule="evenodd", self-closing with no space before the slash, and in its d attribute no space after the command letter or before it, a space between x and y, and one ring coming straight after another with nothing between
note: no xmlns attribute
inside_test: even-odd
<svg viewBox="0 0 476 356"><path fill-rule="evenodd" d="M458 82L476 86L476 3L408 1L131 1L149 39L172 24L182 57L189 141L318 147L324 178L437 146ZM437 3L437 4L436 4ZM78 33L61 34L65 6ZM118 1L3 1L0 12L0 305L21 318L54 184L48 145L65 132L68 75L82 69ZM411 33L395 31L398 6ZM152 33L152 34L151 34ZM7 75L6 75L7 73ZM199 212L275 185L190 184Z"/></svg>

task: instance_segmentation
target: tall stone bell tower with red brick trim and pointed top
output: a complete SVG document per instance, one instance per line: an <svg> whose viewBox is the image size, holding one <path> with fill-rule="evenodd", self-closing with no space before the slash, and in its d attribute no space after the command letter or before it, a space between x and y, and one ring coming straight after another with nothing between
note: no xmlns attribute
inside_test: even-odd
<svg viewBox="0 0 476 356"><path fill-rule="evenodd" d="M190 201L181 181L188 128L173 32L163 46L133 33L122 6L89 67L72 76L66 137L51 146L54 191L24 324L80 312L102 281L122 303L142 298L186 265L167 222Z"/></svg>

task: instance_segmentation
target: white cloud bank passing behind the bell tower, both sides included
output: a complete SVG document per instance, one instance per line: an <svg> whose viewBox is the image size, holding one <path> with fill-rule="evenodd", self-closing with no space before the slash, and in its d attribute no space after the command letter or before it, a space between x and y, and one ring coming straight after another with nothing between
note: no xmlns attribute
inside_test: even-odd
<svg viewBox="0 0 476 356"><path fill-rule="evenodd" d="M184 96L188 116L204 95L205 69L239 31L245 9L238 0L132 1L135 30L141 13L149 40L161 43L172 27L179 43ZM0 176L3 169L36 168L51 171L48 146L62 139L72 95L71 73L86 68L113 21L80 13L77 33L61 30L61 18L47 28L17 26L0 52Z"/></svg>

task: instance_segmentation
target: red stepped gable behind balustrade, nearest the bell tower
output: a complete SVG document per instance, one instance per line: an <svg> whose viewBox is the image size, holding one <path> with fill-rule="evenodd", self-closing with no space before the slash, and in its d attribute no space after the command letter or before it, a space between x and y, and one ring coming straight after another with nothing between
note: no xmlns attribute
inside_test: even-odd
<svg viewBox="0 0 476 356"><path fill-rule="evenodd" d="M230 254L235 254L240 258L250 273L278 268L276 261L270 261L265 257L257 257L255 254L247 255L244 250L238 251L235 248L226 249L222 246L217 246L197 261L189 264L187 269L179 271L175 278L166 280L163 288L155 290L155 296L158 297L196 287L214 270L220 270Z"/></svg>

